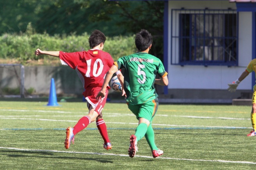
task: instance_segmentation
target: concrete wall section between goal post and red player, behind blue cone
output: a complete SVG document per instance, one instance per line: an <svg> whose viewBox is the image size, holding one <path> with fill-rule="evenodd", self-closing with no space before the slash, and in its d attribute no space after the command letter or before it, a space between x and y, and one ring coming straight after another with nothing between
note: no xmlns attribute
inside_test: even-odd
<svg viewBox="0 0 256 170"><path fill-rule="evenodd" d="M25 88L34 88L37 94L49 93L52 78L57 94L81 94L84 91L75 70L68 66L25 67Z"/></svg>

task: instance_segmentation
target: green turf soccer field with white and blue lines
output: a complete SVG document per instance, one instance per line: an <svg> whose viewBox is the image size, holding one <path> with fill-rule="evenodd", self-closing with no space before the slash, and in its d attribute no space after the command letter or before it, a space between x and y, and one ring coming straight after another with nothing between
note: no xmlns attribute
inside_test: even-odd
<svg viewBox="0 0 256 170"><path fill-rule="evenodd" d="M137 119L125 103L107 103L103 118L112 143L103 149L96 123L64 148L66 128L87 115L85 102L0 102L0 169L254 169L255 137L250 106L163 105L153 121L155 142L164 151L152 157L145 138L134 158L129 137Z"/></svg>

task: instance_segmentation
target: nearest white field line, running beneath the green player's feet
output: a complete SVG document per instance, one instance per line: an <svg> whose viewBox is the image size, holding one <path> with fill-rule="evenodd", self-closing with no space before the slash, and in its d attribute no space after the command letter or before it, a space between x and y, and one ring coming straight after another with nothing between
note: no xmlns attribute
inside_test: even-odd
<svg viewBox="0 0 256 170"><path fill-rule="evenodd" d="M128 156L125 154L107 154L107 153L98 153L98 152L70 152L70 151L56 151L56 150L40 150L40 149L20 149L14 147L0 147L0 149L10 149L17 151L31 151L31 152L57 152L57 153L76 153L76 154L94 154L94 155L110 155L110 156ZM152 158L152 156L138 156L140 158ZM168 157L158 157L156 159L173 159L173 160L183 160L183 161L206 161L206 162L222 162L222 163L242 163L242 164L256 164L256 162L247 162L247 161L225 161L225 160L205 160L205 159L186 159L186 158L168 158Z"/></svg>

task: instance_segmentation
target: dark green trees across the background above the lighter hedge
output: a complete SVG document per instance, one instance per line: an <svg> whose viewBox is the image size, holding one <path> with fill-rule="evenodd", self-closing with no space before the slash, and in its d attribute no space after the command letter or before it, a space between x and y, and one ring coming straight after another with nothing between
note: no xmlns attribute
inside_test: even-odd
<svg viewBox="0 0 256 170"><path fill-rule="evenodd" d="M163 56L164 1L1 0L0 8L0 34L31 28L49 35L82 35L98 29L113 37L143 28L153 35L150 53Z"/></svg>

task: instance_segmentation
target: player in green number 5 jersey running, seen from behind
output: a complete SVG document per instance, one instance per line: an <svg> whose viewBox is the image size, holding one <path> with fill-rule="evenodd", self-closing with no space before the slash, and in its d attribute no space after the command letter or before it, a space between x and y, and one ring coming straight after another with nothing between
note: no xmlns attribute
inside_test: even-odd
<svg viewBox="0 0 256 170"><path fill-rule="evenodd" d="M141 30L136 34L135 45L137 53L119 58L108 70L101 91L96 98L105 96L105 90L112 75L124 68L124 82L121 82L126 93L128 108L139 120L135 134L130 136L128 154L133 158L136 154L137 142L145 136L152 151L153 158L164 152L155 144L155 135L152 121L158 109L158 95L154 84L168 85L167 72L160 59L148 54L152 46L152 35L147 30ZM156 79L156 74L160 79Z"/></svg>

